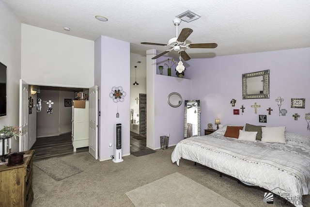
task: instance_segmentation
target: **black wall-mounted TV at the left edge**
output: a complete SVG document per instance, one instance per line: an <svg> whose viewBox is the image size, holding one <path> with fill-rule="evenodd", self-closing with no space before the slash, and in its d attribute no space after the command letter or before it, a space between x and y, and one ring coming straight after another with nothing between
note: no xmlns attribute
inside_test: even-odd
<svg viewBox="0 0 310 207"><path fill-rule="evenodd" d="M0 63L0 116L6 115L6 66Z"/></svg>

